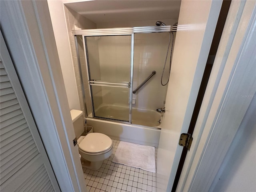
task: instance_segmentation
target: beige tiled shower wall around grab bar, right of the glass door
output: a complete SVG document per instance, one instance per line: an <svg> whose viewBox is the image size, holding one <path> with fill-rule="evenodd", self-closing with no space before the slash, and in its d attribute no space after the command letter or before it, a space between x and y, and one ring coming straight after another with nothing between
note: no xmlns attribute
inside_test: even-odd
<svg viewBox="0 0 256 192"><path fill-rule="evenodd" d="M133 107L155 110L164 106L166 87L160 84L162 68L168 47L169 33L135 34L134 41L134 89L140 85L153 70L156 74L133 94L136 104ZM168 72L170 56L166 61ZM167 73L168 74L168 73Z"/></svg>

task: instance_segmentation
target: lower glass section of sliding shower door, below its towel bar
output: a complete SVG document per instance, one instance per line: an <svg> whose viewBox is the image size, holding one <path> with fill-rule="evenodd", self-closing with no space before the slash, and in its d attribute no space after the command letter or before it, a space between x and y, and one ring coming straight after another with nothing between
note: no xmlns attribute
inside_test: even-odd
<svg viewBox="0 0 256 192"><path fill-rule="evenodd" d="M94 116L129 122L130 88L91 85Z"/></svg>

